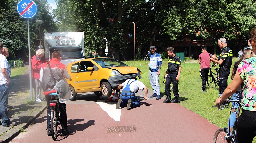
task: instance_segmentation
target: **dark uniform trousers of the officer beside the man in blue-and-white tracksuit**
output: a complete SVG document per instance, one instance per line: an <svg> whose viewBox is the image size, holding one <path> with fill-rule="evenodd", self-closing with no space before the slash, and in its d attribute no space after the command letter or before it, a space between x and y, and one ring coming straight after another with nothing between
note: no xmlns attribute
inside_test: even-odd
<svg viewBox="0 0 256 143"><path fill-rule="evenodd" d="M170 96L170 84L172 83L172 90L175 97L179 97L179 88L178 88L178 81L176 81L176 73L168 73L166 80L165 80L165 95Z"/></svg>

